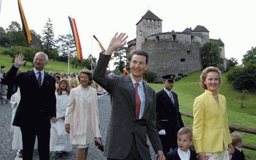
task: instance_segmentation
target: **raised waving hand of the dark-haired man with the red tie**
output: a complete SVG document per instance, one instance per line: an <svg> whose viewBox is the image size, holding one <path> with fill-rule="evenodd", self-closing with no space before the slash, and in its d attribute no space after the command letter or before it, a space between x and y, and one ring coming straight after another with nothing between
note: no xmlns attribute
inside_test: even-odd
<svg viewBox="0 0 256 160"><path fill-rule="evenodd" d="M125 36L125 33L118 33L111 39L108 49L105 51L105 55L111 55L116 49L123 47L126 44L126 39L128 36ZM124 37L125 36L125 37Z"/></svg>

